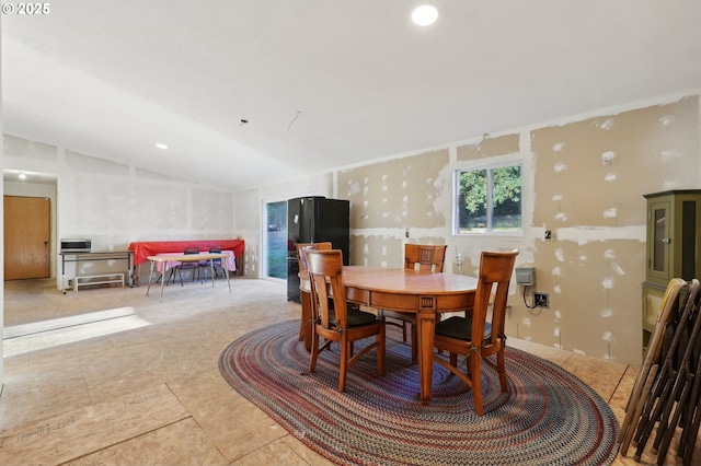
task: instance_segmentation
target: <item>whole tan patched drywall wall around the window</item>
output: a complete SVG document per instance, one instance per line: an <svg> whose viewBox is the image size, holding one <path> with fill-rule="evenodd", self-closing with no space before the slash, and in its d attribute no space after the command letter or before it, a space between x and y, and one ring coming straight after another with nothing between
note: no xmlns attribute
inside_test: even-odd
<svg viewBox="0 0 701 466"><path fill-rule="evenodd" d="M402 267L405 243L447 244L446 270L474 276L482 251L517 248L516 266L535 267L536 286L512 282L507 335L639 363L642 195L700 186L699 96L658 102L338 170L350 264ZM522 164L522 233L455 235L455 171L501 162ZM549 294L550 308L528 308L533 291Z"/></svg>

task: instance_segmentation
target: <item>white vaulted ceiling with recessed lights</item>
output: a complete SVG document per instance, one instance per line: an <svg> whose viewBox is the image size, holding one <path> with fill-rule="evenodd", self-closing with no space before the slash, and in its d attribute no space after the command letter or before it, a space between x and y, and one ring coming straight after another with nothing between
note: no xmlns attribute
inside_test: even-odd
<svg viewBox="0 0 701 466"><path fill-rule="evenodd" d="M243 189L701 86L698 0L420 3L3 14L4 131Z"/></svg>

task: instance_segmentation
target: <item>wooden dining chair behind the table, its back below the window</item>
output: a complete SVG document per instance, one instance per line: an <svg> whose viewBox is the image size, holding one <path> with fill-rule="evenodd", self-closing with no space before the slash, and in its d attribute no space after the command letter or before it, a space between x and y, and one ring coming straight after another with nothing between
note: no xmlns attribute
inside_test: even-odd
<svg viewBox="0 0 701 466"><path fill-rule="evenodd" d="M441 272L446 259L447 245L429 246L423 244L406 244L404 246L404 268L410 270L423 270ZM400 327L402 329L402 340L406 341L406 327L411 325L412 338L412 362L416 362L418 338L416 336L416 315L394 311L381 310L379 315L382 318L390 317L393 321L386 321L387 325ZM399 321L399 322L394 322Z"/></svg>

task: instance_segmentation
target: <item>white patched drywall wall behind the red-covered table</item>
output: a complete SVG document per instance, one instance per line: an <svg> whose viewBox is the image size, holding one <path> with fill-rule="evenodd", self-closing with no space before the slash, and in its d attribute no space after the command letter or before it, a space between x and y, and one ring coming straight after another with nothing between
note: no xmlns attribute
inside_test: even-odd
<svg viewBox="0 0 701 466"><path fill-rule="evenodd" d="M233 193L11 135L3 141L4 168L58 177L54 256L58 253L56 243L64 237L91 238L92 251L125 251L135 241L239 236L233 231ZM245 266L245 259L242 264ZM53 257L53 276L61 288L60 260ZM76 275L122 272L126 268L122 260L81 260L79 269L72 263L66 266L66 284ZM142 281L148 279L148 264L138 266L137 272Z"/></svg>

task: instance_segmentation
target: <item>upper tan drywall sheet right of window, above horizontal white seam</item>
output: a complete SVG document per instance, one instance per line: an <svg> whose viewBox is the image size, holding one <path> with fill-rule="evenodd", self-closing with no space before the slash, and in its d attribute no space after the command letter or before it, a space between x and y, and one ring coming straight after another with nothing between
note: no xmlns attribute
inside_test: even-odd
<svg viewBox="0 0 701 466"><path fill-rule="evenodd" d="M688 135L698 130L698 98L690 97L532 131L533 222L644 224L644 194L697 186L699 142Z"/></svg>

